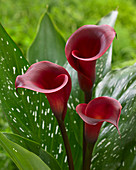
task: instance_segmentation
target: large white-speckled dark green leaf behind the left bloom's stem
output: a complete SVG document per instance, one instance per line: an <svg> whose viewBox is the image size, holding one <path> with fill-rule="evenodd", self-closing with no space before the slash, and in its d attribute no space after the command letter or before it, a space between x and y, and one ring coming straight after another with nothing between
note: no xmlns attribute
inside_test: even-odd
<svg viewBox="0 0 136 170"><path fill-rule="evenodd" d="M29 64L20 49L0 25L0 103L2 112L14 133L39 143L59 162L62 169L68 169L59 126L45 95L30 90L23 90L20 95L16 93L15 79L28 67ZM78 158L78 154L81 154L81 148L70 127L70 115L66 116L66 128L71 139L74 163L79 169L78 161L81 158Z"/></svg>

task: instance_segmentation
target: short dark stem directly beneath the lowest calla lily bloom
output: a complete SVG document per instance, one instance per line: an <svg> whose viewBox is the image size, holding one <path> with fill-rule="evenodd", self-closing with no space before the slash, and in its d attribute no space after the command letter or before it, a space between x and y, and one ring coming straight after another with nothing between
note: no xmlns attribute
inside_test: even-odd
<svg viewBox="0 0 136 170"><path fill-rule="evenodd" d="M83 170L90 170L92 152L93 152L94 145L95 145L95 143L86 142L86 150L85 150L85 155L84 155Z"/></svg>

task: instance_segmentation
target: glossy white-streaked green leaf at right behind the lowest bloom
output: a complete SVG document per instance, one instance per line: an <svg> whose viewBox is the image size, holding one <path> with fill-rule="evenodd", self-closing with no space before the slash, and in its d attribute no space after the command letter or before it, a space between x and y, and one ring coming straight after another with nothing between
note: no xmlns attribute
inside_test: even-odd
<svg viewBox="0 0 136 170"><path fill-rule="evenodd" d="M136 66L109 72L96 87L96 96L110 96L122 105L119 129L104 123L95 146L93 168L134 170L136 167Z"/></svg>

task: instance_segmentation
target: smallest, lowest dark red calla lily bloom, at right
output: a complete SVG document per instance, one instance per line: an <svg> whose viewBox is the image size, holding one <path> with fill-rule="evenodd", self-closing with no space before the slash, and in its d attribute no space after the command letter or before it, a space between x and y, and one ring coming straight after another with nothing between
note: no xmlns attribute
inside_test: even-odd
<svg viewBox="0 0 136 170"><path fill-rule="evenodd" d="M88 142L96 142L104 121L113 124L118 132L121 104L111 97L98 97L88 104L79 104L76 111L85 122L85 138ZM120 134L120 133L119 133Z"/></svg>

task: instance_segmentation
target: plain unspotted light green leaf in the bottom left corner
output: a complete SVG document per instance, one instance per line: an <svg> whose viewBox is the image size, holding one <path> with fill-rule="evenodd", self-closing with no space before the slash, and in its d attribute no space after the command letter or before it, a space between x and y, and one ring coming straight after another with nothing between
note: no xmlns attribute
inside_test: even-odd
<svg viewBox="0 0 136 170"><path fill-rule="evenodd" d="M11 142L0 132L0 144L8 152L17 167L22 170L40 169L49 170L50 168L35 154L24 149L20 145Z"/></svg>

